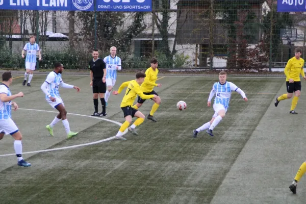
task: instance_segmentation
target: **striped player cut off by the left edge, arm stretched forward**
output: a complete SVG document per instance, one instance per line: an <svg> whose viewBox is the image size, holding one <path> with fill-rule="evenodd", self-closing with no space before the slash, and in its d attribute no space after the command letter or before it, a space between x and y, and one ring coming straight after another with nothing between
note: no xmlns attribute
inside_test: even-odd
<svg viewBox="0 0 306 204"><path fill-rule="evenodd" d="M12 105L14 106L14 111L18 109L18 105L12 100L17 97L23 97L23 93L11 94L9 87L13 82L13 77L10 71L6 71L2 74L2 81L0 85L0 140L5 134L10 134L15 139L14 149L18 159L18 166L28 167L31 166L31 164L24 161L22 158L22 135L11 118Z"/></svg>

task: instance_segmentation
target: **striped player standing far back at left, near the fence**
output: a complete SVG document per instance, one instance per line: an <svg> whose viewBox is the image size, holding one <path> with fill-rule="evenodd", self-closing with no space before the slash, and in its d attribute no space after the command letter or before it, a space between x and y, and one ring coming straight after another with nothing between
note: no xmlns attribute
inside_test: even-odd
<svg viewBox="0 0 306 204"><path fill-rule="evenodd" d="M41 61L41 53L37 43L35 43L35 37L32 35L30 36L30 42L24 45L21 53L21 57L24 58L24 52L27 51L27 57L25 58L25 73L24 73L24 80L22 85L24 86L27 83L27 78L29 75L29 81L27 86L31 86L31 80L33 78L33 71L36 67L36 52L39 55L39 61Z"/></svg>

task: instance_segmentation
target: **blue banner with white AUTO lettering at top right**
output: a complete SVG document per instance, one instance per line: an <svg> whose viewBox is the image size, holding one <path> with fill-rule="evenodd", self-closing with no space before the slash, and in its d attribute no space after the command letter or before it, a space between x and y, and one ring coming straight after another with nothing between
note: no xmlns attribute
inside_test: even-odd
<svg viewBox="0 0 306 204"><path fill-rule="evenodd" d="M306 11L306 0L277 0L277 12Z"/></svg>

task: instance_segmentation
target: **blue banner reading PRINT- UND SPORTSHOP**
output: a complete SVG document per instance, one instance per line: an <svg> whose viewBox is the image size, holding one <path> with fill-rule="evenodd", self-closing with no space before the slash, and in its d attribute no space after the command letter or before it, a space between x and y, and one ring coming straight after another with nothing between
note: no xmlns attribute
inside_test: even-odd
<svg viewBox="0 0 306 204"><path fill-rule="evenodd" d="M97 11L152 11L152 0L96 0L96 4Z"/></svg>

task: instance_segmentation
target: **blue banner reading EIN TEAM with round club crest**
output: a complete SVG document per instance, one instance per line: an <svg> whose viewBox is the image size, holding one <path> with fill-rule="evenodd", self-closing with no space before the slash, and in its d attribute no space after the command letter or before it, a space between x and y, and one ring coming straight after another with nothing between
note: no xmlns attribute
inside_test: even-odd
<svg viewBox="0 0 306 204"><path fill-rule="evenodd" d="M93 11L94 0L0 0L1 9Z"/></svg>

